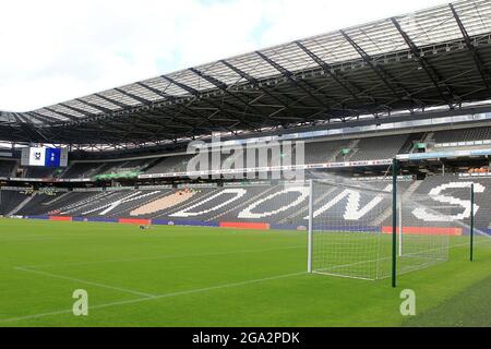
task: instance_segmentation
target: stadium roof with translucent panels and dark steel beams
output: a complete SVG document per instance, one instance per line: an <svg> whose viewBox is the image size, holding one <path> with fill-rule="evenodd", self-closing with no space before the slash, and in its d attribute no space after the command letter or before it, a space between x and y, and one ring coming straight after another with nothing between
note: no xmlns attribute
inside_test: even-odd
<svg viewBox="0 0 491 349"><path fill-rule="evenodd" d="M489 99L491 1L464 0L0 112L0 140L134 147L213 132L397 121Z"/></svg>

